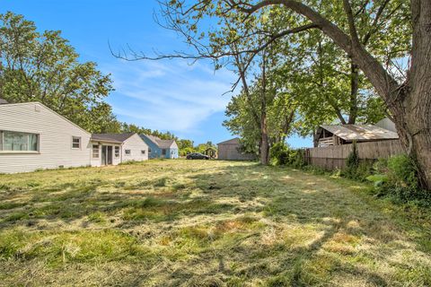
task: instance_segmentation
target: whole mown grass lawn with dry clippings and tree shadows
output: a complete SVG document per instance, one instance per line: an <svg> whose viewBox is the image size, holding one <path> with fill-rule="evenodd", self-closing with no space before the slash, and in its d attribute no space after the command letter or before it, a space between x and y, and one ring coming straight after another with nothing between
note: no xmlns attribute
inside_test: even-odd
<svg viewBox="0 0 431 287"><path fill-rule="evenodd" d="M251 162L0 175L0 285L430 286L431 215Z"/></svg>

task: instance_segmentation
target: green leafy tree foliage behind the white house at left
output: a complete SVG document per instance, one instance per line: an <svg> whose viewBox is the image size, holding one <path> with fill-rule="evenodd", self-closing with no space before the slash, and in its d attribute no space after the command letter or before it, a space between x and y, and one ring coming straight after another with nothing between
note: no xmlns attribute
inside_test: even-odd
<svg viewBox="0 0 431 287"><path fill-rule="evenodd" d="M90 132L117 131L103 99L113 91L110 75L79 55L60 31L40 33L11 12L0 15L0 97L40 101Z"/></svg>

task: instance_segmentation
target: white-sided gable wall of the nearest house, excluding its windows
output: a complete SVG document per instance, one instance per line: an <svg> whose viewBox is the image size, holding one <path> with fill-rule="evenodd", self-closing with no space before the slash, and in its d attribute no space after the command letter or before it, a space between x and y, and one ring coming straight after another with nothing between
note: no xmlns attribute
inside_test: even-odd
<svg viewBox="0 0 431 287"><path fill-rule="evenodd" d="M39 153L0 152L0 173L91 163L91 135L40 103L0 105L0 130L40 135ZM81 137L80 149L72 149L72 136Z"/></svg>

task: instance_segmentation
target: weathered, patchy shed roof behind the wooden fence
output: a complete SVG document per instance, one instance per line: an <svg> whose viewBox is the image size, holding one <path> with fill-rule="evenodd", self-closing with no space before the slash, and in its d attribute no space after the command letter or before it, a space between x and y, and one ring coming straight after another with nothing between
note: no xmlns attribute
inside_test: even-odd
<svg viewBox="0 0 431 287"><path fill-rule="evenodd" d="M397 133L372 125L321 125L321 128L345 141L378 141L399 138Z"/></svg>

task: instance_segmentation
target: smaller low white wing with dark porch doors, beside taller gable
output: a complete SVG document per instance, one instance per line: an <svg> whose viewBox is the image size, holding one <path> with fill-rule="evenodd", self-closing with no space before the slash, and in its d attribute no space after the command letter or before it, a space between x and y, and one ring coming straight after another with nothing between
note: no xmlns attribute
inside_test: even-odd
<svg viewBox="0 0 431 287"><path fill-rule="evenodd" d="M148 145L137 134L94 134L92 166L148 160Z"/></svg>

